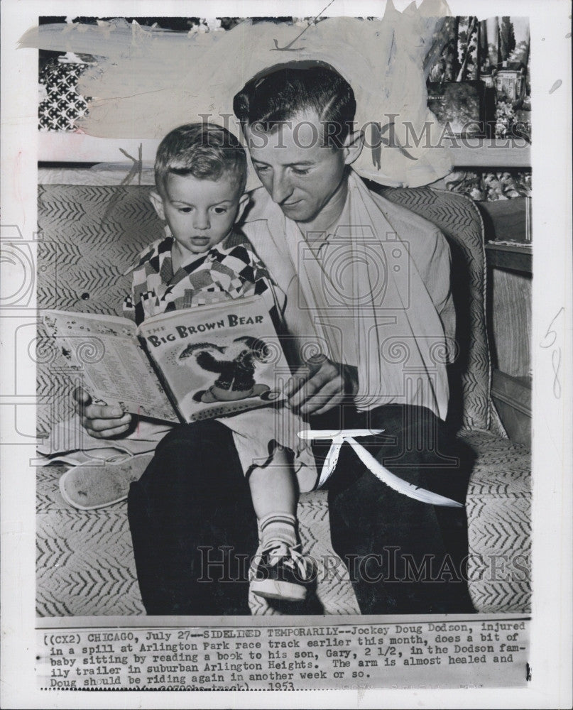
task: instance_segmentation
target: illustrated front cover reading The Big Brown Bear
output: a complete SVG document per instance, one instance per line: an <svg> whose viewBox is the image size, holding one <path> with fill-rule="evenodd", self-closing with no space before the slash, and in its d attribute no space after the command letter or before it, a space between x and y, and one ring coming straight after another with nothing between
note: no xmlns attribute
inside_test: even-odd
<svg viewBox="0 0 573 710"><path fill-rule="evenodd" d="M290 375L263 297L149 318L138 329L188 422L282 399Z"/></svg>

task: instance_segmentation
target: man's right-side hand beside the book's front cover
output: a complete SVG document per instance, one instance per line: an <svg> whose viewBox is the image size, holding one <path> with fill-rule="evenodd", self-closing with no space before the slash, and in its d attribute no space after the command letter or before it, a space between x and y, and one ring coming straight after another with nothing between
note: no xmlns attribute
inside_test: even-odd
<svg viewBox="0 0 573 710"><path fill-rule="evenodd" d="M358 390L355 367L317 356L298 368L285 387L288 406L302 415L322 414Z"/></svg>

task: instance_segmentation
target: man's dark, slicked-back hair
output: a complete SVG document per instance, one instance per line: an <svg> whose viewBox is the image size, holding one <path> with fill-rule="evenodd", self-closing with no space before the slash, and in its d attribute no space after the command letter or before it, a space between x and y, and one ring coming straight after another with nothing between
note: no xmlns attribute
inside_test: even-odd
<svg viewBox="0 0 573 710"><path fill-rule="evenodd" d="M243 128L259 124L267 132L307 109L317 113L327 146L342 148L354 121L356 99L350 84L331 67L283 67L254 77L233 99Z"/></svg>

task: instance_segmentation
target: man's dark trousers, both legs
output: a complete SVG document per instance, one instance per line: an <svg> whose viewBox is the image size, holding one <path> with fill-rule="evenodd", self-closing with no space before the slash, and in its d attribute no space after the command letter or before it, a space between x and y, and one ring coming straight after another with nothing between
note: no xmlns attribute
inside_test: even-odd
<svg viewBox="0 0 573 710"><path fill-rule="evenodd" d="M383 429L359 442L401 479L463 502L472 454L420 407L337 408L312 429ZM330 442L314 448L318 466ZM463 508L415 501L378 481L344 444L328 483L334 550L363 614L472 611L463 579ZM139 586L148 614L249 614L256 516L231 431L181 425L158 445L128 499Z"/></svg>

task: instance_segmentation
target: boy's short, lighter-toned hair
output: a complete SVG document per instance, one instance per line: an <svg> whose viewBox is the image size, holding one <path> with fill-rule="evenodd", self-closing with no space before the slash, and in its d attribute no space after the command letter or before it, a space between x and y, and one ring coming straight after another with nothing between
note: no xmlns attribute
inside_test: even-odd
<svg viewBox="0 0 573 710"><path fill-rule="evenodd" d="M199 180L219 180L229 174L242 194L246 153L235 136L221 126L185 124L163 138L155 155L155 186L162 196L169 173L192 175Z"/></svg>

